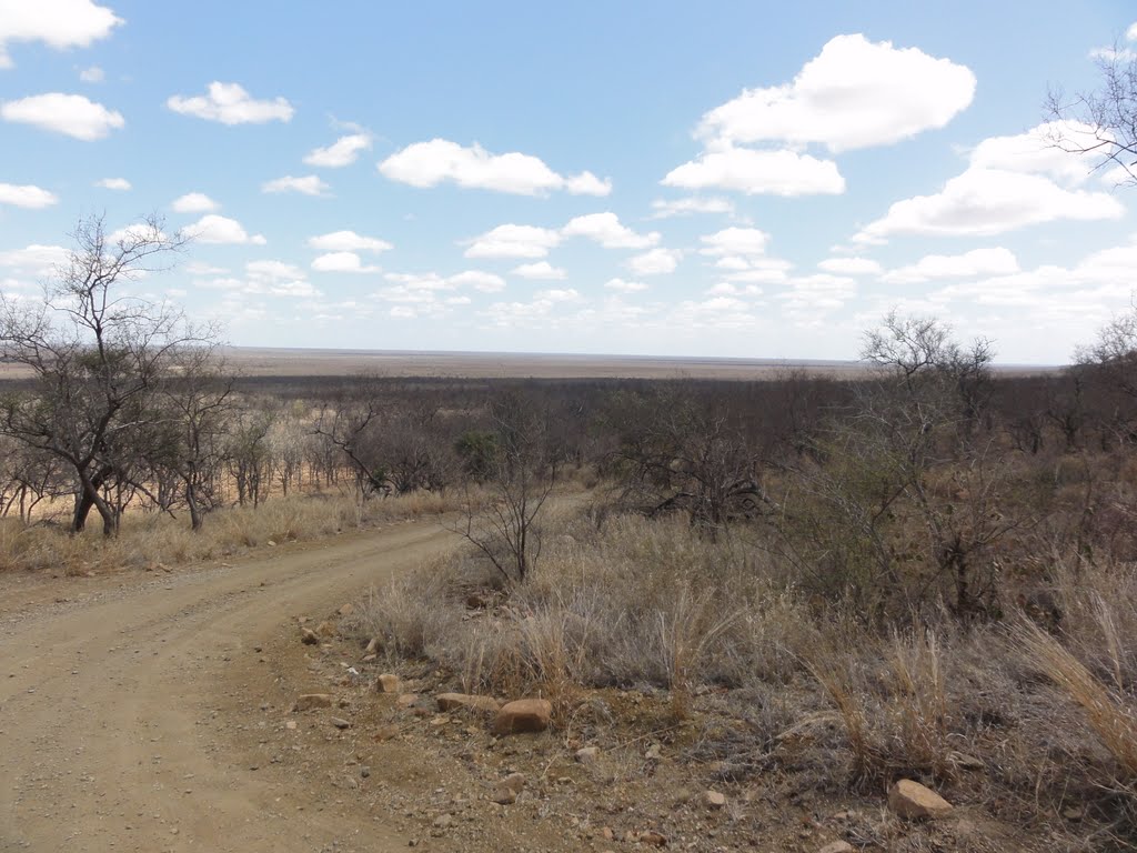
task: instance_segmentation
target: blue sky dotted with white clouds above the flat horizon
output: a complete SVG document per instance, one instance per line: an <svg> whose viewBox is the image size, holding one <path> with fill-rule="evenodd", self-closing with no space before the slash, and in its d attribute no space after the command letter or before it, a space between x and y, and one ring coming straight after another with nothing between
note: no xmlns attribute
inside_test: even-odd
<svg viewBox="0 0 1137 853"><path fill-rule="evenodd" d="M898 307L1061 363L1130 305L1137 189L1043 102L1135 19L0 0L0 289L157 212L196 239L133 289L238 345L852 358Z"/></svg>

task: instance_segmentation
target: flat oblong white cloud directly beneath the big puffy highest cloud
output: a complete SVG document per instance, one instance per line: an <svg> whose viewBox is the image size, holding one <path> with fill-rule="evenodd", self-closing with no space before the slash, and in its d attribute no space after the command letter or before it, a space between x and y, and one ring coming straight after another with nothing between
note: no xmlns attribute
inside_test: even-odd
<svg viewBox="0 0 1137 853"><path fill-rule="evenodd" d="M832 160L796 151L756 151L728 147L706 151L673 168L665 187L684 190L721 189L748 196L808 196L845 192L845 179Z"/></svg>

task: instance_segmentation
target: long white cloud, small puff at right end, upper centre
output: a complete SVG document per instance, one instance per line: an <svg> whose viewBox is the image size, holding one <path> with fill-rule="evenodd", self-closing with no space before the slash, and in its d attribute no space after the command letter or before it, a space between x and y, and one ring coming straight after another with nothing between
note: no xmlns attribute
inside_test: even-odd
<svg viewBox="0 0 1137 853"><path fill-rule="evenodd" d="M451 182L465 189L495 190L518 196L545 196L554 190L573 194L607 196L609 182L584 172L565 177L531 155L490 154L474 143L470 148L446 139L415 142L396 151L379 171L391 181L429 188Z"/></svg>

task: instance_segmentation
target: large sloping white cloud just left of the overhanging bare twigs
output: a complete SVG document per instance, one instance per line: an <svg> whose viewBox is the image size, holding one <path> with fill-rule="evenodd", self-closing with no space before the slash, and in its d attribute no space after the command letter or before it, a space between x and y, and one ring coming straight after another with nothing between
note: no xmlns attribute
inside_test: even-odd
<svg viewBox="0 0 1137 853"><path fill-rule="evenodd" d="M976 146L968 168L930 196L896 201L863 227L854 242L883 243L894 234L989 235L1056 220L1112 220L1124 213L1106 192L1077 189L1085 163L1052 147L1055 133L1080 125L1043 124Z"/></svg>

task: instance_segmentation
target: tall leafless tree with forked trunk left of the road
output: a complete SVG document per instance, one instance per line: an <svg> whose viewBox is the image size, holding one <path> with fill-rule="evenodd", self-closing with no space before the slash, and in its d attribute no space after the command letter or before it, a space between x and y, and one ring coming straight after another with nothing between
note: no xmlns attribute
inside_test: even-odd
<svg viewBox="0 0 1137 853"><path fill-rule="evenodd" d="M32 375L28 392L0 400L0 431L63 461L74 475L72 530L91 510L103 532L118 530L121 506L108 490L136 461L132 436L147 397L179 347L200 336L183 316L124 291L144 273L168 267L185 245L150 217L108 234L101 217L83 220L75 248L35 304L0 296L0 355Z"/></svg>

